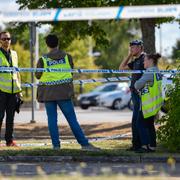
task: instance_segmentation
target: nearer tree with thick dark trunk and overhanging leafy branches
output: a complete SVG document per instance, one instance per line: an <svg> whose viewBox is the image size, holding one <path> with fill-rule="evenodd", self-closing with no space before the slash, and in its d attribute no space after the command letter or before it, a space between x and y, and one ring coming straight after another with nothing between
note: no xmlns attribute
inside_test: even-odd
<svg viewBox="0 0 180 180"><path fill-rule="evenodd" d="M41 0L16 0L21 5L21 9L29 8L75 8L75 7L103 7L103 6L132 6L132 5L156 5L156 4L178 4L179 0L136 0L136 1L122 1L122 0L85 0L85 1L73 1L73 0L60 0L60 1L41 1ZM142 40L144 41L145 51L147 53L155 52L155 26L165 21L171 21L172 18L147 18L140 19ZM52 23L53 31L58 32L62 37L62 44L68 45L79 35L81 38L87 34L92 35L97 45L104 45L107 42L103 29L98 26L96 21L93 21L92 26L89 26L87 22L61 22Z"/></svg>

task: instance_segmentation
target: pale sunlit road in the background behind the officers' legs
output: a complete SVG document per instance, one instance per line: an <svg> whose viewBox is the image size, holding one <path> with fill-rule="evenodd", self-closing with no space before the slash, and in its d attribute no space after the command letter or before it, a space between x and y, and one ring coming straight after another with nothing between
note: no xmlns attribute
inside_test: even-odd
<svg viewBox="0 0 180 180"><path fill-rule="evenodd" d="M96 124L103 122L130 122L132 111L124 109L121 111L115 111L104 108L90 108L82 110L75 108L76 115L80 124ZM19 114L15 116L15 123L27 123L32 119L31 109L22 109ZM35 110L34 119L38 123L47 123L47 116L44 109ZM58 111L58 120L61 124L67 124L61 111Z"/></svg>

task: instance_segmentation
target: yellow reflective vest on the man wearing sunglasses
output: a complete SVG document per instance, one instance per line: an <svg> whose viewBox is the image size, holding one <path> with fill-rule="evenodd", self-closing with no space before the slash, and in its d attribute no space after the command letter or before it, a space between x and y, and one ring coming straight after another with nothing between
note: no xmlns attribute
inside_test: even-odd
<svg viewBox="0 0 180 180"><path fill-rule="evenodd" d="M18 58L15 51L11 50L11 58L12 58L12 66L17 67L18 66ZM0 66L2 67L10 67L10 64L8 60L6 59L6 56L0 51ZM0 73L1 79L0 79L0 90L7 93L18 93L21 91L21 85L18 80L18 73L19 72L13 72L13 73ZM13 88L12 88L13 84ZM12 92L13 91L13 92Z"/></svg>

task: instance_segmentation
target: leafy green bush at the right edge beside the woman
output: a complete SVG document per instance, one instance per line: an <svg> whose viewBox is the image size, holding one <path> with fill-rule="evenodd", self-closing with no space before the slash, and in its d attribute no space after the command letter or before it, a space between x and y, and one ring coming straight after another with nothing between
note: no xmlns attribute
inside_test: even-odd
<svg viewBox="0 0 180 180"><path fill-rule="evenodd" d="M168 112L158 120L157 137L169 151L180 150L180 74L173 79L174 86L168 91Z"/></svg>

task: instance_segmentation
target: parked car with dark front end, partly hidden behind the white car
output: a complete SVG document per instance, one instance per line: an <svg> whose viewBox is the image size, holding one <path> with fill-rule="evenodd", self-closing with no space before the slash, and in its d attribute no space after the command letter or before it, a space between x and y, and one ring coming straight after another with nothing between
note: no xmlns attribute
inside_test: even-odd
<svg viewBox="0 0 180 180"><path fill-rule="evenodd" d="M104 93L112 92L121 89L122 86L128 87L126 82L112 82L98 86L93 91L78 96L78 104L82 109L88 109L90 106L97 106L97 97Z"/></svg>

